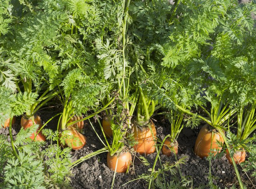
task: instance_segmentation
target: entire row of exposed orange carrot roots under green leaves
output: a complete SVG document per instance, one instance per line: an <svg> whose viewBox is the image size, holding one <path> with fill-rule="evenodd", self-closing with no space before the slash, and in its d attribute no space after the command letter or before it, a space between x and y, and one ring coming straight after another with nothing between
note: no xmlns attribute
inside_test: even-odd
<svg viewBox="0 0 256 189"><path fill-rule="evenodd" d="M82 118L83 116L73 116L68 122L71 123L73 121L78 121ZM14 117L12 119L12 125L15 123L15 121L16 121L16 118ZM21 118L22 128L27 129L31 127L33 124L38 124L39 125L38 129L42 128L43 124L40 116L36 115L31 117L30 119L26 119L25 117ZM7 128L9 125L10 125L10 118L5 121L4 128ZM138 128L135 126L135 124L133 126L134 126L133 127L134 139L135 141L137 141L137 144L133 146L134 150L137 153L145 154L145 155L154 153L156 150L157 133L156 133L156 128L153 121L150 120L149 126L144 126L143 128ZM84 128L83 121L80 121L68 127L70 131L69 134L73 135L74 138L71 138L71 139L67 138L65 140L66 145L61 145L61 146L62 147L69 146L73 150L79 150L84 145L86 145L86 136L82 135L79 132L83 128ZM107 116L105 116L104 119L102 120L102 128L103 128L104 134L108 138L111 138L112 137L111 123ZM60 135L62 135L61 127L59 131L60 131ZM45 136L42 134L42 131L33 133L30 136L30 138L36 141L46 140ZM220 133L218 133L217 130L209 129L209 126L206 124L201 128L197 136L197 139L195 141L194 152L197 156L201 158L208 157L209 153L214 153L214 155L216 155L216 153L218 153L222 149L222 147L218 144L218 142L223 143L224 142L223 137L220 135ZM80 145L77 145L78 143ZM174 153L178 154L178 142L176 140L173 141L171 140L170 137L168 137L164 141L162 153L168 157L173 155ZM242 149L242 151L237 151L236 153L234 153L233 158L235 160L235 163L237 164L237 163L244 162L245 155L246 155L246 152L244 149ZM226 149L226 157L228 159L228 162L232 164L230 153L228 152L227 149ZM118 162L118 165L116 165L117 162ZM130 166L130 163L131 163L130 152L124 152L115 156L111 156L110 153L107 154L107 166L112 170L116 169L116 172L126 172L127 168Z"/></svg>

